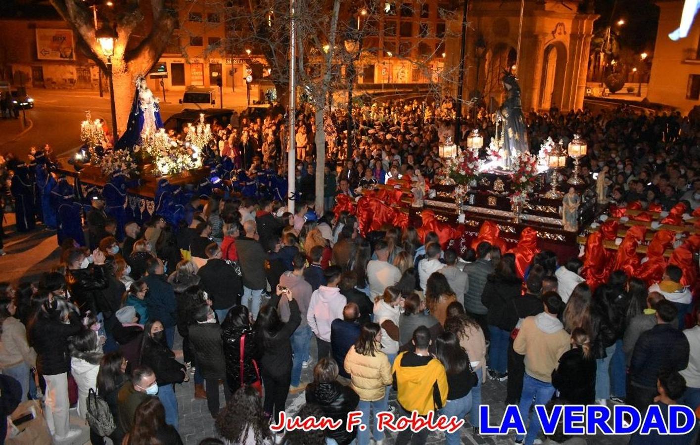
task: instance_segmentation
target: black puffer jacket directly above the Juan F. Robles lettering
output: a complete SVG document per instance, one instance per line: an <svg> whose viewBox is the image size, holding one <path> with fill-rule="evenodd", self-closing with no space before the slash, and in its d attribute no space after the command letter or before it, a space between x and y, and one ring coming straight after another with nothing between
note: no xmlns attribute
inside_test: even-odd
<svg viewBox="0 0 700 445"><path fill-rule="evenodd" d="M315 403L323 410L323 416L330 417L334 421L342 421L342 425L335 430L326 430L325 436L335 439L339 445L346 445L355 439L357 428L351 432L346 431L345 422L350 411L355 411L360 401L355 391L349 386L344 386L337 381L330 383L313 382L306 388L307 403Z"/></svg>

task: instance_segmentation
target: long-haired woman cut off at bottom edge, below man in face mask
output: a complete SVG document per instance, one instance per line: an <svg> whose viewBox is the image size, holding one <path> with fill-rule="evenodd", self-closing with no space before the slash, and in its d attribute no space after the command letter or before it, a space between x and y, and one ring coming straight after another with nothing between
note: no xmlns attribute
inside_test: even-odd
<svg viewBox="0 0 700 445"><path fill-rule="evenodd" d="M165 407L155 397L148 397L141 402L134 413L134 427L124 439L124 445L168 444L182 445L182 439L176 428L166 423Z"/></svg>

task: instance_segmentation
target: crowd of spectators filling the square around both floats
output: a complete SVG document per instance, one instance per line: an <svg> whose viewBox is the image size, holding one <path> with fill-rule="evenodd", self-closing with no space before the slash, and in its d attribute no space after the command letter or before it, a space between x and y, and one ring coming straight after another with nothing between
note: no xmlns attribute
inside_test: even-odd
<svg viewBox="0 0 700 445"><path fill-rule="evenodd" d="M107 188L79 197L50 173L47 148L28 162L7 157L3 197L15 205L18 229L33 229L37 218L51 227L52 196L63 207L52 213L59 264L37 281L1 285L4 376L18 382L22 400L43 395L57 440L78 434L68 423L76 404L90 421L93 444L105 436L180 443L176 393L190 378L220 436L207 444L381 444L385 434L373 419L384 411L465 418L466 434L477 435L487 379L507 382L505 397L490 398L519 405L528 430L516 442L528 445L538 440L540 424L529 414L535 404L696 409L700 318L678 267L668 265L659 283L614 271L594 286L582 278L579 257L559 264L545 250L519 272L512 253L486 241L458 254L434 232L421 237L415 227L385 225L360 233L356 216L328 211L337 194L353 196L360 184L439 178L437 145L454 132L440 116L450 105L358 108L351 159L344 159L342 131L329 131L335 139L321 214L313 206L314 115L306 108L295 129L295 209L283 206L286 192L272 186L272 174L251 181L260 171L285 171L281 115L242 118L240 129L215 127L207 162L217 177L225 177L223 169L233 181L186 190L179 211L167 203L174 189L157 195L147 215L115 211L110 200L120 198ZM528 122L533 153L549 136L582 134L589 143L582 177L593 181L591 173L605 169L606 195L619 206L700 204L697 130L687 118L619 108L530 113ZM332 115L328 125L343 128L344 117ZM493 133L483 111L470 120L475 126ZM241 168L243 182L230 175ZM48 196L39 178L57 183ZM176 337L182 360L173 350ZM304 381L309 367L312 377ZM94 427L91 390L109 405L113 430ZM273 434L269 425L289 394L302 391L306 403L288 414L345 421L358 410L367 428ZM395 443L424 443L428 433L404 430ZM460 434L445 441L460 443ZM690 439L673 437L678 444Z"/></svg>

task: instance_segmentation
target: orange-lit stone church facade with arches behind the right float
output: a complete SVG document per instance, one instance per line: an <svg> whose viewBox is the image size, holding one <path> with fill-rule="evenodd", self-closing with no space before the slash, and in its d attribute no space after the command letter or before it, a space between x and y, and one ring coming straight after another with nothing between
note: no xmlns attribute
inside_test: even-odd
<svg viewBox="0 0 700 445"><path fill-rule="evenodd" d="M584 4L585 3L585 4ZM517 63L521 2L475 0L468 13L463 98L499 104L503 71L516 72L524 111L583 107L593 22L587 2L525 0ZM461 13L449 21L446 92L457 92Z"/></svg>

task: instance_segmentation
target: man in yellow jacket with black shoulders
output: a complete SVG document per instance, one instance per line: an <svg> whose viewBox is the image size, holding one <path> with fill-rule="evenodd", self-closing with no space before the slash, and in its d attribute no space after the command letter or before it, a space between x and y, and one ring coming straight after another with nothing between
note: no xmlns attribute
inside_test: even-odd
<svg viewBox="0 0 700 445"><path fill-rule="evenodd" d="M420 416L426 416L430 411L444 407L447 402L447 374L440 360L428 352L430 330L427 327L420 326L413 332L412 343L415 352L400 353L391 369L393 387L398 392L398 414L408 417L412 411L416 411ZM398 433L395 443L425 443L428 432L427 428L416 433L407 428Z"/></svg>

